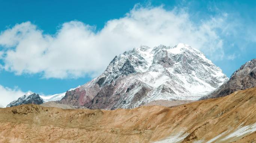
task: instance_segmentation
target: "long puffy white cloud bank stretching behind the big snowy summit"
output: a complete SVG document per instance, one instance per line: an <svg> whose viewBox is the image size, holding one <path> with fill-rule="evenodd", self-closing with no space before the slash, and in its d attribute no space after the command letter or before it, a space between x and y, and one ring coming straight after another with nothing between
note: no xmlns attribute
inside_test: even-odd
<svg viewBox="0 0 256 143"><path fill-rule="evenodd" d="M221 59L223 41L216 29L223 25L225 16L193 23L180 9L135 6L124 17L109 20L100 31L79 21L63 23L54 35L44 34L31 22L16 24L0 34L1 57L7 71L40 73L45 78L95 76L115 55L140 45L182 42L210 59Z"/></svg>

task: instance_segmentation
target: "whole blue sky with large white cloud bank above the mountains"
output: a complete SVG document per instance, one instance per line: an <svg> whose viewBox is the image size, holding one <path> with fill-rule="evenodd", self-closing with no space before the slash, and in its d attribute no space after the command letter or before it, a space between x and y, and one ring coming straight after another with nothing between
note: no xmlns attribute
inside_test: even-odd
<svg viewBox="0 0 256 143"><path fill-rule="evenodd" d="M152 20L150 22L153 23L164 21L165 17L163 16L167 16L169 22L175 20L183 23L182 25L186 28L183 27L178 30L171 27L172 22L170 24L155 23L155 25L170 25L168 30L177 32L177 35L186 34L187 37L185 35L184 37L182 35L176 36L175 33L170 34L169 32L170 35L168 33L159 35L159 38L155 38L155 42L150 43L147 40L154 39L154 37L147 37L147 32L151 32L150 34L153 35L158 28L159 31L162 30L161 26L151 27L153 24L147 25L149 26L148 29L152 28L155 31L131 32L131 35L125 35L127 32L122 32L122 27L118 27L124 26L122 25L124 23L125 26L127 23L141 26L145 21L140 18L147 18L147 14L153 15L150 18ZM74 0L72 2L65 0L0 0L0 18L0 51L2 52L2 55L0 52L0 86L2 86L0 89L12 91L12 93L31 90L51 95L65 92L100 74L114 55L121 54L125 50L130 50L141 44L157 46L158 44L185 42L192 46L195 45L195 48L205 53L207 58L219 66L228 77L246 61L256 58L256 1L253 0ZM188 23L188 26L184 23ZM116 26L115 29L111 29L113 25ZM187 27L191 27L191 29ZM18 30L15 31L15 28ZM129 30L132 31L136 28ZM8 30L12 31L7 33ZM79 31L83 31L83 33ZM122 41L123 39L121 39L119 40L120 43L116 42L115 32L121 36L124 34L123 39L126 40ZM193 32L196 34L193 35ZM102 42L109 34L113 34L110 42ZM137 35L145 38L136 41ZM38 38L33 39L37 36ZM163 39L161 36L170 36L168 37L170 39L161 41ZM191 38L192 36L197 39ZM80 40L61 45L63 41L68 41L73 37ZM32 41L32 43L26 45L27 43L24 41L26 38L30 39L28 41ZM88 38L88 41L83 42L83 38ZM127 44L129 38L133 42ZM200 39L199 44L196 43L198 39ZM90 40L96 44L90 45ZM24 45L24 43L26 44ZM82 50L84 53L77 52L69 55L69 50L81 50L79 44L83 45L82 47L88 46L88 49ZM54 45L60 48L56 50ZM123 47L123 45L127 47ZM43 55L38 55L42 58L37 59L30 56L29 52L23 52L31 51L27 47L32 47L32 51L35 50L33 46L37 46L39 51L40 48L47 49L42 52ZM58 50L64 52L61 54L54 53ZM48 51L52 53L45 54ZM90 54L90 51L93 51L94 55ZM38 54L37 51L34 52L34 55ZM97 52L101 53L98 57ZM51 57L52 61L47 63L46 59L50 58L44 56ZM52 58L54 56L56 57ZM81 57L79 58L79 56ZM77 59L75 59L76 57ZM59 59L61 60L58 61ZM70 59L70 63L66 59ZM66 64L61 61L66 62ZM71 65L72 63L74 66ZM97 66L95 66L96 64ZM66 68L63 68L65 66Z"/></svg>

